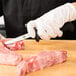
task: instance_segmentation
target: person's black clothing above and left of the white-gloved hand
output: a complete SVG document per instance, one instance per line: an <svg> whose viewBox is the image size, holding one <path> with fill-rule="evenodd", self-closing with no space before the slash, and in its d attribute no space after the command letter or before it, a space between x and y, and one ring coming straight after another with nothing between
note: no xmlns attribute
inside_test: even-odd
<svg viewBox="0 0 76 76"><path fill-rule="evenodd" d="M7 37L24 34L25 23L66 2L71 0L2 0Z"/></svg>

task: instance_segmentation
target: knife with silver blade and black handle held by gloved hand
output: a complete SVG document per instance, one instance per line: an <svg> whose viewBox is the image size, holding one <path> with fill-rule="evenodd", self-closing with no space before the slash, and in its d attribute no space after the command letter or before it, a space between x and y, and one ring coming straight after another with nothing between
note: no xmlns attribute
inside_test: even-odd
<svg viewBox="0 0 76 76"><path fill-rule="evenodd" d="M30 38L30 35L27 33L27 34L18 36L18 37L14 38L14 39L11 39L11 40L9 40L9 41L6 41L5 44L6 44L6 45L7 45L7 44L12 44L12 43L15 43L15 42L17 42L17 41L25 40L25 39L28 39L28 38ZM37 42L39 42L39 40L40 40L40 38L39 38L39 36L38 36L38 34L37 34L37 30L36 30L36 29L35 29L35 40L36 40Z"/></svg>

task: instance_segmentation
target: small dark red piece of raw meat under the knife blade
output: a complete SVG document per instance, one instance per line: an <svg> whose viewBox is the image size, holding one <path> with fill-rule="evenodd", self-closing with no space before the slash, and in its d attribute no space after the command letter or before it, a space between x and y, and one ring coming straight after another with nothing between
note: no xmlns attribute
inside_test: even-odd
<svg viewBox="0 0 76 76"><path fill-rule="evenodd" d="M2 39L1 40L1 42L4 44L5 47L7 47L8 49L13 50L13 51L23 50L23 48L24 48L24 41L23 40L6 45L5 41L8 41L8 40L10 40L10 39Z"/></svg>

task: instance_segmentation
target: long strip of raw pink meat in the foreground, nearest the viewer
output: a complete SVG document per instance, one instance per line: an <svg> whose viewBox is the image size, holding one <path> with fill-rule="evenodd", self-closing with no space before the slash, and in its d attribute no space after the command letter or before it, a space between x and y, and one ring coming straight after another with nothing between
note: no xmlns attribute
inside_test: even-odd
<svg viewBox="0 0 76 76"><path fill-rule="evenodd" d="M62 63L67 59L66 51L44 51L31 56L17 66L17 76L25 76L29 72L34 72L54 64Z"/></svg>

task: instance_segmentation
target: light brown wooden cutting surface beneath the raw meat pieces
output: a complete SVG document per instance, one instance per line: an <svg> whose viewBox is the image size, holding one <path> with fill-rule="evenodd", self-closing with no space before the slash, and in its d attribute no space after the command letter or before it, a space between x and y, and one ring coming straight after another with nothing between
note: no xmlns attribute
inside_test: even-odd
<svg viewBox="0 0 76 76"><path fill-rule="evenodd" d="M24 50L15 51L27 58L40 51L65 50L67 61L25 76L76 76L76 40L25 40ZM45 59L46 60L46 59ZM0 76L16 76L16 66L0 65Z"/></svg>

